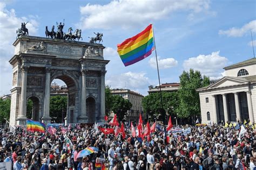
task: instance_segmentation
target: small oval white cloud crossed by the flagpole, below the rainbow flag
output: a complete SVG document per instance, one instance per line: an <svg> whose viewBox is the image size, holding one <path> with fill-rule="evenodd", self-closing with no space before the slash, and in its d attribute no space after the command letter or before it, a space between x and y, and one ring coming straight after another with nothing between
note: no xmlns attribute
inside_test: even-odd
<svg viewBox="0 0 256 170"><path fill-rule="evenodd" d="M157 60L159 69L171 68L178 65L178 61L173 58L161 59L160 57L158 57ZM157 60L155 57L152 57L149 60L149 64L152 68L157 69Z"/></svg>

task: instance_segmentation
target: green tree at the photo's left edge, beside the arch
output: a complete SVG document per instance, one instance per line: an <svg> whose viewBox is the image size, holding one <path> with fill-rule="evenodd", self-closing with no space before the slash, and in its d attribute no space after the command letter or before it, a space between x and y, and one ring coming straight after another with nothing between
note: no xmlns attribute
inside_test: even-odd
<svg viewBox="0 0 256 170"><path fill-rule="evenodd" d="M0 98L0 123L3 124L10 119L11 99Z"/></svg>

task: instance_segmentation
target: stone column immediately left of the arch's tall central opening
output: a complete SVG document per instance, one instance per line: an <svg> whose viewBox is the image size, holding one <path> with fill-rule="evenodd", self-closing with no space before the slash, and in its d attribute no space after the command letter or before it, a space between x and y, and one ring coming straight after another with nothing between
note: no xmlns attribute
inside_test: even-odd
<svg viewBox="0 0 256 170"><path fill-rule="evenodd" d="M44 90L44 116L43 123L51 123L50 117L50 87L51 87L51 69L45 68L45 90Z"/></svg>

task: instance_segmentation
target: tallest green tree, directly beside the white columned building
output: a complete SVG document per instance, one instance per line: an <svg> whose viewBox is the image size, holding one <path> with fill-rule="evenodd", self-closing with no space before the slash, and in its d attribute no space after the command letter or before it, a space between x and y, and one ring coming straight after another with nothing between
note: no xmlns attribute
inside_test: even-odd
<svg viewBox="0 0 256 170"><path fill-rule="evenodd" d="M207 76L201 76L201 73L190 69L189 72L183 71L179 76L180 88L178 90L179 107L177 109L178 117L188 118L200 115L199 93L196 89L208 86L210 79Z"/></svg>

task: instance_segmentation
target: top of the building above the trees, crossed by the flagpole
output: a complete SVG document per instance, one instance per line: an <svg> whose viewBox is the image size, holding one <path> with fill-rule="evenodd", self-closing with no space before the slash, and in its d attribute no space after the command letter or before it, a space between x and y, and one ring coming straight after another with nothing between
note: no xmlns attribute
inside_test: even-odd
<svg viewBox="0 0 256 170"><path fill-rule="evenodd" d="M178 91L180 86L180 83L164 83L161 84L161 91L167 91L167 92L172 92L172 91ZM149 94L151 93L157 93L160 91L159 86L153 87L149 86L149 91L147 91Z"/></svg>

